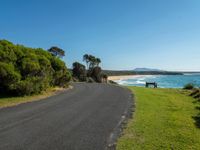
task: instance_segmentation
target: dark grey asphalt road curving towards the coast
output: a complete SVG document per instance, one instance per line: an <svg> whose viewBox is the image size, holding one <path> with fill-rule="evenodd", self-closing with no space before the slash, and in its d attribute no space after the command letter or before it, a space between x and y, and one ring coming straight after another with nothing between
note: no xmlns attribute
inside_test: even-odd
<svg viewBox="0 0 200 150"><path fill-rule="evenodd" d="M116 140L131 93L74 84L45 100L0 109L0 150L104 150Z"/></svg>

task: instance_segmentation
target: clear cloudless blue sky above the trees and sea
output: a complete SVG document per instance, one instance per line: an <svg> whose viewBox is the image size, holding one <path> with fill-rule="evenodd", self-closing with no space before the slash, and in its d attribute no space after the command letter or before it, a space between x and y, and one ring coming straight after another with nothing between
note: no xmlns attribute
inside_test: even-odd
<svg viewBox="0 0 200 150"><path fill-rule="evenodd" d="M0 39L104 69L200 71L200 0L1 0Z"/></svg>

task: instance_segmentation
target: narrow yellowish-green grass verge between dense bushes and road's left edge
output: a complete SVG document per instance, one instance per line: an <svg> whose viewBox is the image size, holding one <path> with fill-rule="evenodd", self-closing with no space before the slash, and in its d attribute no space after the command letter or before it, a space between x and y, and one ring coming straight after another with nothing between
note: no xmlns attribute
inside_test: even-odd
<svg viewBox="0 0 200 150"><path fill-rule="evenodd" d="M21 103L27 103L32 101L41 100L50 96L57 94L58 92L62 92L63 88L49 88L45 92L42 92L39 95L32 96L23 96L23 97L10 97L8 95L0 95L0 108L2 107L10 107L15 106Z"/></svg>

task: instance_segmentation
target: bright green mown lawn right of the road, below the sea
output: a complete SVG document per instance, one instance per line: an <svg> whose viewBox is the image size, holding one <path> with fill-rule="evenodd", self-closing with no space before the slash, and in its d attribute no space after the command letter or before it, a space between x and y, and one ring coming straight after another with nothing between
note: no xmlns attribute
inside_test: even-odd
<svg viewBox="0 0 200 150"><path fill-rule="evenodd" d="M117 150L200 149L200 128L193 119L199 103L186 91L129 88L135 93L136 110Z"/></svg>

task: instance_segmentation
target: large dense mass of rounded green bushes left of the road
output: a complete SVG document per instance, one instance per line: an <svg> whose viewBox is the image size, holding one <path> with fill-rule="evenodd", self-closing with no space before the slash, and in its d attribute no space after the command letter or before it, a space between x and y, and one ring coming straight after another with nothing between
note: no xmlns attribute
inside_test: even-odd
<svg viewBox="0 0 200 150"><path fill-rule="evenodd" d="M65 86L71 79L65 63L48 51L0 40L0 89L17 95Z"/></svg>

